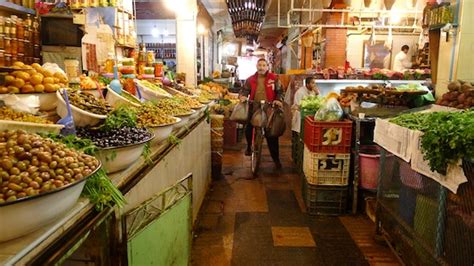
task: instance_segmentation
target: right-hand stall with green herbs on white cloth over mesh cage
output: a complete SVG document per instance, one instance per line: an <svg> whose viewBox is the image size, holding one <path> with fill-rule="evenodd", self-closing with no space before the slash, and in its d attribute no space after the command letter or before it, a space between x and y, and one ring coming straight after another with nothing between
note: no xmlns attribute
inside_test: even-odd
<svg viewBox="0 0 474 266"><path fill-rule="evenodd" d="M448 133L453 123L457 129ZM408 264L467 265L474 259L469 126L472 111L441 106L376 122L375 141L386 149L378 232Z"/></svg>

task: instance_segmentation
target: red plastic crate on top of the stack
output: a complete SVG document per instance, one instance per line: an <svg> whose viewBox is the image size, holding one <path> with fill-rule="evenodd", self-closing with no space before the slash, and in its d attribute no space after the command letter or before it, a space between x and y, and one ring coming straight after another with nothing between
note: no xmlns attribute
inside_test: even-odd
<svg viewBox="0 0 474 266"><path fill-rule="evenodd" d="M333 132L335 139L327 142L326 134ZM352 141L352 121L320 122L312 116L304 120L304 144L311 152L350 153Z"/></svg>

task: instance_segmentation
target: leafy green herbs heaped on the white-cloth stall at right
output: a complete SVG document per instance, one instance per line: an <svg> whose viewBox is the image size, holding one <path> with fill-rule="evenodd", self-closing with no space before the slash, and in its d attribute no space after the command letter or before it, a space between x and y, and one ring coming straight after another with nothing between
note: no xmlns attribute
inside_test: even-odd
<svg viewBox="0 0 474 266"><path fill-rule="evenodd" d="M474 110L404 114L390 122L424 133L421 150L431 171L446 174L448 164L474 158Z"/></svg>

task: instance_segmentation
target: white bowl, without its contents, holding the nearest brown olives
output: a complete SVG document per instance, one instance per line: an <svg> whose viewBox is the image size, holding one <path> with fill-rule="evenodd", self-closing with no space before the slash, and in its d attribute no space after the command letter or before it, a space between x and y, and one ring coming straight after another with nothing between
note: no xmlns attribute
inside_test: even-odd
<svg viewBox="0 0 474 266"><path fill-rule="evenodd" d="M70 210L88 177L56 190L0 204L0 242L38 230Z"/></svg>

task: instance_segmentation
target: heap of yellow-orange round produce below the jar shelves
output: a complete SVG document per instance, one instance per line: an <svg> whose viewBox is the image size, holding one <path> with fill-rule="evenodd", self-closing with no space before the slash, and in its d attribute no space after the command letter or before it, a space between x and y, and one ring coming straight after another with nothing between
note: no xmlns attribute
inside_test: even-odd
<svg viewBox="0 0 474 266"><path fill-rule="evenodd" d="M5 85L0 86L0 93L56 92L68 84L67 78L62 73L52 73L37 63L30 66L15 62L13 68L21 70L5 76Z"/></svg>

